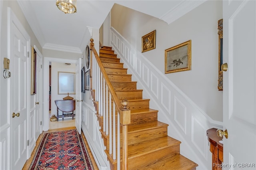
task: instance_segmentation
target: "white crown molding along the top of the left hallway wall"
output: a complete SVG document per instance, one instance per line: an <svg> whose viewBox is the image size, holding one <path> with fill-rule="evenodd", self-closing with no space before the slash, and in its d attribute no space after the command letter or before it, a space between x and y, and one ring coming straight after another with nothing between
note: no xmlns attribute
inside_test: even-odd
<svg viewBox="0 0 256 170"><path fill-rule="evenodd" d="M24 0L17 0L17 2L18 2L18 5L20 6L20 9L22 10L30 28L34 32L36 39L40 43L41 47L43 47L44 44L46 43L46 41L44 39L44 35L39 26L38 20L36 19L36 16L31 15L31 10L33 10L33 8L31 6L30 2L29 1L26 2L26 5L24 4Z"/></svg>

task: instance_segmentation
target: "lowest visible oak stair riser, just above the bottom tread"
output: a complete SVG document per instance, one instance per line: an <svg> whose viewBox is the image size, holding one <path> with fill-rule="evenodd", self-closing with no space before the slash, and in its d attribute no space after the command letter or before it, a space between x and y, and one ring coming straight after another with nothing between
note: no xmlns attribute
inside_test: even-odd
<svg viewBox="0 0 256 170"><path fill-rule="evenodd" d="M128 159L128 169L139 170L140 168L146 167L149 164L153 164L158 159L164 158L166 155L176 154L179 152L180 152L180 145L178 144L168 148L160 149L153 153L138 156L136 158L130 158Z"/></svg>

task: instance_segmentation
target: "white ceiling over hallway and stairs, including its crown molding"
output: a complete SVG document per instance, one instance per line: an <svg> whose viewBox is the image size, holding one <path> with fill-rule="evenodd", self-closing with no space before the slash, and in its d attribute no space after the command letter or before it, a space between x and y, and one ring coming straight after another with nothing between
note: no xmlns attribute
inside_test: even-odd
<svg viewBox="0 0 256 170"><path fill-rule="evenodd" d="M56 0L18 0L40 45L46 49L82 53L88 28L100 28L114 3L165 21L180 18L206 0L77 0L77 12L65 14Z"/></svg>

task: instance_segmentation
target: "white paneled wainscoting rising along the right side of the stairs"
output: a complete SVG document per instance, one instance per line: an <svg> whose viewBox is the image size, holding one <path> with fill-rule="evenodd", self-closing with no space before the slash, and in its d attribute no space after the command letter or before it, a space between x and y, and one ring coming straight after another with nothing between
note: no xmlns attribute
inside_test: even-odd
<svg viewBox="0 0 256 170"><path fill-rule="evenodd" d="M143 98L150 99L150 108L158 110L158 120L169 125L168 135L182 142L181 154L196 162L197 170L209 169L212 158L206 130L222 128L222 122L212 120L114 28L110 36L112 49L132 74L132 80L138 82L137 87L143 89Z"/></svg>

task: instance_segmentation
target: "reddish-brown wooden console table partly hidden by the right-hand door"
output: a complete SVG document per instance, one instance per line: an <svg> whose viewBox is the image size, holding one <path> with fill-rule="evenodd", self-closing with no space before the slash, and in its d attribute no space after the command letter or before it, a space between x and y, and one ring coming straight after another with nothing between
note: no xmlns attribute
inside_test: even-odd
<svg viewBox="0 0 256 170"><path fill-rule="evenodd" d="M212 170L221 170L220 164L223 162L223 144L219 141L222 137L217 136L217 129L211 128L206 131L212 152ZM219 165L219 166L218 166Z"/></svg>

